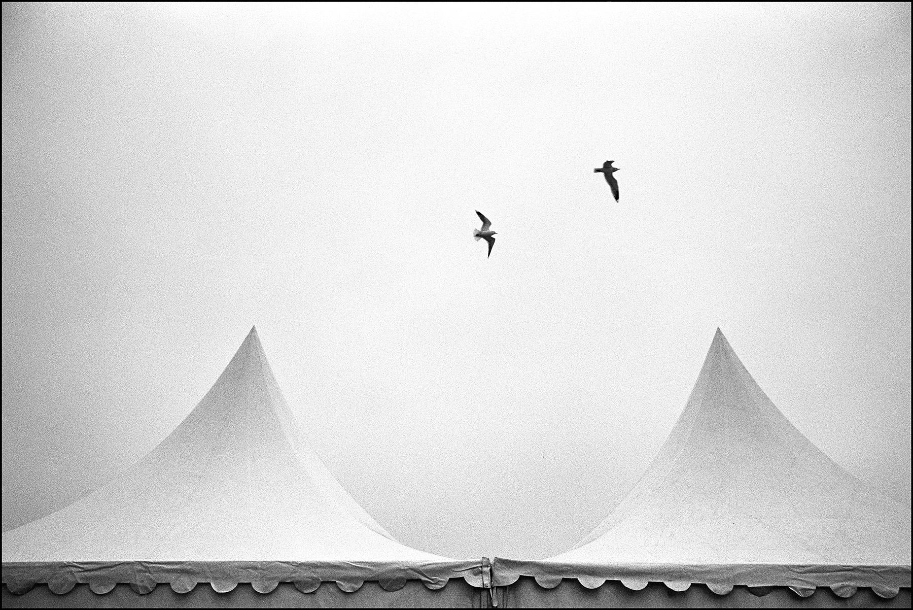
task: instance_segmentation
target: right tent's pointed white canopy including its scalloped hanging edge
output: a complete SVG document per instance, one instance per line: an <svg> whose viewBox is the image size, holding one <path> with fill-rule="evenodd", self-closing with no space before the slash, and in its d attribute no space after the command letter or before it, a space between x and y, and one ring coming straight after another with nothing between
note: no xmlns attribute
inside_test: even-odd
<svg viewBox="0 0 913 610"><path fill-rule="evenodd" d="M910 509L855 479L771 403L717 329L644 476L572 550L496 559L520 575L639 585L910 586ZM583 582L583 581L582 581Z"/></svg>

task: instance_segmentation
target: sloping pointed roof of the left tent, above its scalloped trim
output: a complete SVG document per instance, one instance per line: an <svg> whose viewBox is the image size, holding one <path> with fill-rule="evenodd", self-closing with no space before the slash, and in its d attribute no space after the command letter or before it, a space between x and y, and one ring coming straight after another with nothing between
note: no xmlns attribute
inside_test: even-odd
<svg viewBox="0 0 913 610"><path fill-rule="evenodd" d="M396 542L342 489L310 447L253 328L194 410L133 468L3 534L4 576L10 558L74 556L245 565L447 561Z"/></svg>

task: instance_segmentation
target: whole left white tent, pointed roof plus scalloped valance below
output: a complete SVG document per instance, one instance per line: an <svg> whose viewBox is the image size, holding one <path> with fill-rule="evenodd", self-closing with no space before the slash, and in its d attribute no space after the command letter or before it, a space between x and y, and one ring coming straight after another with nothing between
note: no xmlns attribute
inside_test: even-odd
<svg viewBox="0 0 913 610"><path fill-rule="evenodd" d="M198 583L219 592L251 583L261 593L284 583L309 593L327 581L336 594L365 581L376 581L379 594L421 581L414 601L425 605L423 592L451 578L465 580L464 591L447 604L477 605L485 592L468 585L482 586L483 573L481 561L396 542L352 500L308 447L256 329L142 461L82 500L3 533L4 605L25 605L29 595L39 595L38 605L54 602L47 590L66 594L76 584L96 594L124 583L140 593L159 583L178 593ZM43 597L40 587L28 593L44 583Z"/></svg>

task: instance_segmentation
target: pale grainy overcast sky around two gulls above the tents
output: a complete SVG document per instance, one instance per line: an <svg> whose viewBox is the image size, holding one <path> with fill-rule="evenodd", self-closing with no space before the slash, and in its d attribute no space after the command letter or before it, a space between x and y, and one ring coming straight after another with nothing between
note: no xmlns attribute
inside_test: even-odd
<svg viewBox="0 0 913 610"><path fill-rule="evenodd" d="M578 542L718 326L909 502L910 5L4 4L4 530L142 458L253 324L425 551Z"/></svg>

